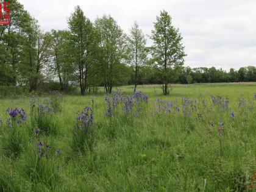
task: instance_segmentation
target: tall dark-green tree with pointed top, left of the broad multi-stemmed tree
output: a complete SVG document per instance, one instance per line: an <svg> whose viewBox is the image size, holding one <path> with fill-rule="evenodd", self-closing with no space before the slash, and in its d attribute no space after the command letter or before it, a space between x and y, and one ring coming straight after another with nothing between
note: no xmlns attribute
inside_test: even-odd
<svg viewBox="0 0 256 192"><path fill-rule="evenodd" d="M94 27L91 21L84 16L84 12L77 6L68 19L68 27L73 41L73 58L77 66L80 92L84 95L89 87L89 71L93 60L93 51L98 43L94 38Z"/></svg>

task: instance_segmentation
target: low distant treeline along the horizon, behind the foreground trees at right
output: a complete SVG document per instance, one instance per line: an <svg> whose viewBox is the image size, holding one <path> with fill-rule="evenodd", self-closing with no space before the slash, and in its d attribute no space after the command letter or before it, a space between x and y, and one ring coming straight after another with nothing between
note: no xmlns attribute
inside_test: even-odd
<svg viewBox="0 0 256 192"><path fill-rule="evenodd" d="M158 79L154 69L150 67L141 68L141 76L139 84L162 84ZM129 85L133 85L133 73L130 76ZM201 83L224 83L224 82L256 82L256 67L247 66L241 67L238 71L231 68L229 72L223 69L200 67L190 68L182 67L176 75L171 76L170 83L172 84L201 84Z"/></svg>

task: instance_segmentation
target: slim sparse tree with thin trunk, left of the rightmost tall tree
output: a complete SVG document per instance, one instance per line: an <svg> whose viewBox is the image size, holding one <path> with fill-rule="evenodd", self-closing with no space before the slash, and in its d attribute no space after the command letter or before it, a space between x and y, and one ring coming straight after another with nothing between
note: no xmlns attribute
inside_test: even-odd
<svg viewBox="0 0 256 192"><path fill-rule="evenodd" d="M142 30L139 28L138 23L135 21L130 29L130 35L128 37L128 59L130 64L135 66L135 79L134 79L134 92L138 85L138 73L140 66L146 63L147 51L146 51L146 39Z"/></svg>

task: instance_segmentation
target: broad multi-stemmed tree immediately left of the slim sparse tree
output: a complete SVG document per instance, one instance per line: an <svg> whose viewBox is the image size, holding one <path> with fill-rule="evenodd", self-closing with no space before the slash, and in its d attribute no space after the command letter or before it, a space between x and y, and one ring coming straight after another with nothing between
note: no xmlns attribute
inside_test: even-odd
<svg viewBox="0 0 256 192"><path fill-rule="evenodd" d="M101 34L99 63L102 81L105 91L111 93L114 84L128 82L124 64L125 35L110 15L98 18L95 26Z"/></svg>

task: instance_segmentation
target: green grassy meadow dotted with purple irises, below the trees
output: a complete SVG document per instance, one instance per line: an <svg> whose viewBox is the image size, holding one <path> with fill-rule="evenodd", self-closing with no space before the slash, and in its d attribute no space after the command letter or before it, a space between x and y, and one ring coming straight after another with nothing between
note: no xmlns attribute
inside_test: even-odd
<svg viewBox="0 0 256 192"><path fill-rule="evenodd" d="M114 91L1 99L0 191L256 190L255 83Z"/></svg>

